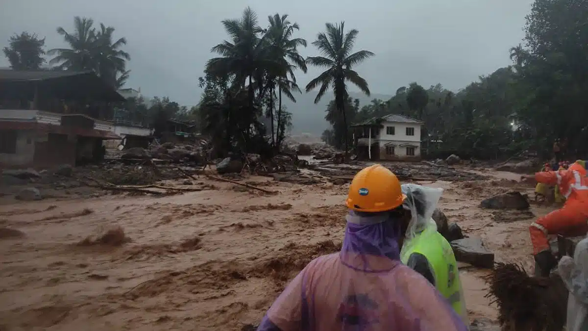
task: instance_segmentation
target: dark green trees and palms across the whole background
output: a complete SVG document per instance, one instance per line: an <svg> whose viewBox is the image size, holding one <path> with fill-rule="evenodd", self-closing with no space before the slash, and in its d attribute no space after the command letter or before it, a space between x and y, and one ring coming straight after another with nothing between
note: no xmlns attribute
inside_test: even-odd
<svg viewBox="0 0 588 331"><path fill-rule="evenodd" d="M324 71L305 90L318 90L315 102L333 91L325 115L331 128L322 137L344 150L351 149L350 124L402 114L425 122L423 147L430 146L430 157L457 153L465 158L500 158L526 150L546 155L556 138L567 138L569 153L585 158L588 2L535 0L526 20L522 44L511 49L512 65L459 91L412 82L389 100L360 105L350 98L347 84L370 94L368 82L354 68L374 54L354 52L357 30L346 31L343 22L326 24L312 42L318 56L304 59L298 50L306 41L296 38L300 27L288 15L268 16L261 25L256 13L246 8L240 18L222 21L228 38L212 48L218 57L206 63L199 79L203 94L197 107L188 110L164 98L151 107L129 101L125 109L197 118L222 153L278 153L292 118L283 98L296 101L302 93L296 75L314 66ZM75 18L72 34L58 29L70 48L48 51L55 55L49 63L58 69L91 69L119 87L129 75L125 62L130 57L121 49L126 39L115 41L114 31L103 24L93 28L92 19ZM43 47L44 39L24 32L11 37L4 52L13 68L37 69L44 62Z"/></svg>

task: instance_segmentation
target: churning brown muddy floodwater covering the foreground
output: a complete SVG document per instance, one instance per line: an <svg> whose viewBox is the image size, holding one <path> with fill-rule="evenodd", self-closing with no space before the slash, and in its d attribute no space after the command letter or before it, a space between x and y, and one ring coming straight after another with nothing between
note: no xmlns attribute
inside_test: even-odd
<svg viewBox="0 0 588 331"><path fill-rule="evenodd" d="M495 179L422 184L445 188L440 207L449 221L482 237L497 262L532 270L531 219L503 223L477 207L482 198L532 187L515 183L515 174L484 174ZM306 263L339 249L348 185L247 181L279 194L202 179L194 183L213 188L1 204L0 330L256 325ZM496 319L485 298L486 273L461 270L470 321Z"/></svg>

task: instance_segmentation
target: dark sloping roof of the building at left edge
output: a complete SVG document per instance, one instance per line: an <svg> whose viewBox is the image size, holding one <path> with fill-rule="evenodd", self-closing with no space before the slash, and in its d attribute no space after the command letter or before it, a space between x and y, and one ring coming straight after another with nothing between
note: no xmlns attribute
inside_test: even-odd
<svg viewBox="0 0 588 331"><path fill-rule="evenodd" d="M35 88L63 100L125 101L93 71L17 71L0 69L0 97L32 98Z"/></svg>

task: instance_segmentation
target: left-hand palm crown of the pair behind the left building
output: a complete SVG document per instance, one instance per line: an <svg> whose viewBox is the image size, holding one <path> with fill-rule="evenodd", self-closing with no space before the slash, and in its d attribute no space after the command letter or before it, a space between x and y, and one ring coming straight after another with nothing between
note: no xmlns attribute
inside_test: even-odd
<svg viewBox="0 0 588 331"><path fill-rule="evenodd" d="M47 55L56 55L49 64L59 64L59 69L68 70L96 70L97 64L93 57L95 51L96 32L92 28L91 18L74 18L74 33L70 34L64 28L57 28L57 33L64 36L71 48L49 49Z"/></svg>

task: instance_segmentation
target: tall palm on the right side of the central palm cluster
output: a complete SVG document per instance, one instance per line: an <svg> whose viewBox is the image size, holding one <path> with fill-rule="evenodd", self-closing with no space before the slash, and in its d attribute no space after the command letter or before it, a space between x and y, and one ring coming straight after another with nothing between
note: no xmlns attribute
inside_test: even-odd
<svg viewBox="0 0 588 331"><path fill-rule="evenodd" d="M278 88L278 133L276 136L280 137L279 130L282 121L282 93L286 95L292 102L296 102L292 91L300 92L300 88L296 85L296 75L294 70L299 68L306 73L306 61L298 52L298 47L306 47L306 40L302 38L292 38L295 31L300 29L298 23L291 23L288 21L288 15L275 14L268 16L269 28L266 32L266 39L268 42L268 56L276 62L272 66L275 70L268 72L268 82L270 87L270 120L272 130L272 143L279 149L280 141L274 140L273 128L273 96L274 90ZM289 76L289 79L288 79Z"/></svg>

